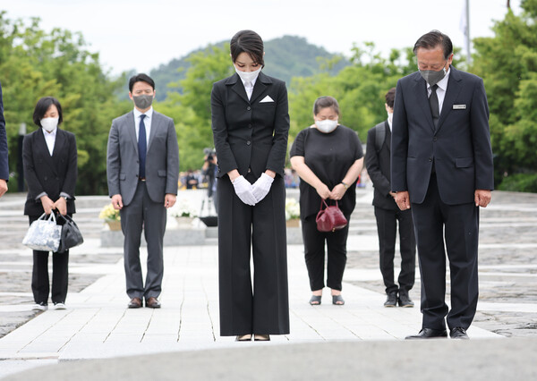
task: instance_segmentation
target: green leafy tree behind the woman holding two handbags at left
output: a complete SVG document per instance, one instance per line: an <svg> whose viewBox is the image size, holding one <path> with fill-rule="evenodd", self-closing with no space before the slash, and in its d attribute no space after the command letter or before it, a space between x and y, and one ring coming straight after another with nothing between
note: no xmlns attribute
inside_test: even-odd
<svg viewBox="0 0 537 381"><path fill-rule="evenodd" d="M11 21L0 13L0 72L4 90L4 113L10 147L10 166L16 166L19 124L30 131L34 106L40 97L57 97L64 108L62 128L76 134L79 156L77 194L107 193L107 135L113 117L124 114L128 102L114 93L124 77L110 80L98 54L87 51L80 34L39 29Z"/></svg>

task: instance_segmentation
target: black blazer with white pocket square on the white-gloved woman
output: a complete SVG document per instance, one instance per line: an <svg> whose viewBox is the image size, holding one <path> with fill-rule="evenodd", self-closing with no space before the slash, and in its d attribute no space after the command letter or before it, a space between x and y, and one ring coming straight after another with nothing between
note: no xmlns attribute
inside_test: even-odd
<svg viewBox="0 0 537 381"><path fill-rule="evenodd" d="M284 175L289 113L286 83L260 72L248 100L235 73L213 85L210 96L218 177L237 169L255 177L267 169Z"/></svg>

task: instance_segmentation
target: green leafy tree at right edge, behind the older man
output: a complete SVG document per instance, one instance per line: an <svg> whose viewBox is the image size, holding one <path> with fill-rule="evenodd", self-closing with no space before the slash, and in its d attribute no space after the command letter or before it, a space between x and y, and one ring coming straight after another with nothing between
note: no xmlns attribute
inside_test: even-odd
<svg viewBox="0 0 537 381"><path fill-rule="evenodd" d="M510 176L533 179L524 189L537 191L537 0L524 0L523 13L507 11L492 38L475 38L472 71L485 83L490 106L490 139L495 180L506 189ZM521 182L515 176L513 182Z"/></svg>

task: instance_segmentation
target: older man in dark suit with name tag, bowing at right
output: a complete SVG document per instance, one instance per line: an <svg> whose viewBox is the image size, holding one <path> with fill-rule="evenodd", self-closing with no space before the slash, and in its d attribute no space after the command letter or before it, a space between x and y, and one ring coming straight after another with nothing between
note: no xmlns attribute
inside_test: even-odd
<svg viewBox="0 0 537 381"><path fill-rule="evenodd" d="M422 330L407 339L446 337L446 317L450 336L467 339L479 294L479 207L494 185L489 106L482 79L451 66L445 34L423 35L413 52L419 72L397 81L391 151L392 190L401 210L412 206L422 275Z"/></svg>

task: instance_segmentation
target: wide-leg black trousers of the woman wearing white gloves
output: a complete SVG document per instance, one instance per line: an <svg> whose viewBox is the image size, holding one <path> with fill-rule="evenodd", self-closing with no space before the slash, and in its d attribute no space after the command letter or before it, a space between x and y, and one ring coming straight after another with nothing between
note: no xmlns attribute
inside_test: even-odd
<svg viewBox="0 0 537 381"><path fill-rule="evenodd" d="M250 182L255 179L246 176ZM254 207L218 179L220 334L288 334L286 189L276 176ZM253 253L253 291L250 258Z"/></svg>

